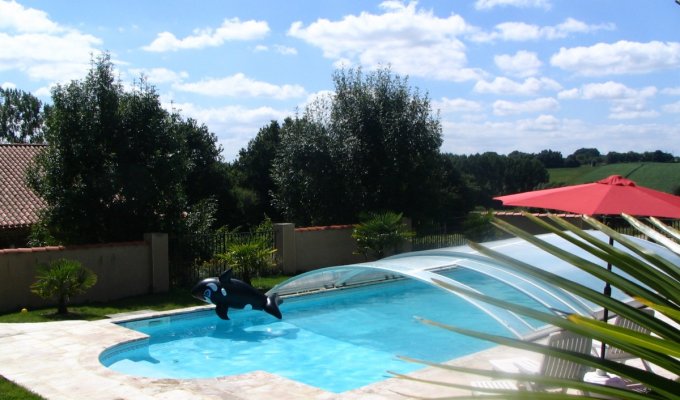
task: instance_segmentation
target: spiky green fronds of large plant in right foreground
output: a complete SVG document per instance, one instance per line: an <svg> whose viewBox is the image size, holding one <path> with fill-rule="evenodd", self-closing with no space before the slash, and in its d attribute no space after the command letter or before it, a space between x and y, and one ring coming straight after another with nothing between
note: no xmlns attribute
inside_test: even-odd
<svg viewBox="0 0 680 400"><path fill-rule="evenodd" d="M550 216L550 219L555 224L552 225L528 213L524 214L533 222L559 235L564 240L576 244L580 248L603 260L604 263L611 263L616 267L617 270L625 272L637 280L637 282L616 272L607 271L606 268L603 268L602 264L592 263L581 257L570 254L561 248L549 244L537 238L536 236L518 229L504 221L494 219L492 223L498 228L534 244L541 250L568 261L574 266L589 274L592 274L599 279L608 281L612 287L619 288L636 299L638 302L654 309L657 316L664 316L665 318L659 319L651 317L649 314L631 305L625 304L609 296L605 296L596 290L589 289L561 276L546 272L540 268L540 265L528 265L524 262L507 257L502 253L493 251L479 244L471 243L470 246L479 251L481 254L500 261L510 268L531 276L535 280L542 280L551 283L566 291L576 294L583 299L589 300L602 307L606 307L612 312L648 328L652 332L652 335L640 334L635 331L614 326L613 324L607 324L603 321L599 321L590 317L584 317L580 315L557 315L537 311L535 309L522 307L516 304L508 303L506 301L495 299L490 296L482 295L474 291L453 287L451 285L447 285L444 282L438 282L438 284L471 298L479 299L489 304L507 308L516 313L546 322L561 329L591 337L594 340L603 341L611 346L615 346L623 351L646 360L651 364L662 367L672 374L675 374L677 377L680 374L680 361L678 361L678 358L680 357L680 331L678 331L678 329L675 327L677 325L673 324L680 323L680 267L661 257L660 255L638 246L634 241L621 234L618 234L616 231L608 228L594 218L587 216L583 217L584 220L593 228L598 229L613 238L617 242L616 246L613 247L556 216ZM651 218L651 223L665 232L664 235L631 216L623 215L623 217L647 237L653 238L657 243L663 244L671 251L680 254L680 246L678 246L676 243L676 241L680 239L680 233L678 231L671 229L654 218ZM571 234L566 232L571 232ZM640 258L634 257L631 254L622 251L619 245L626 247ZM671 323L667 323L664 320L671 321ZM564 353L555 351L554 349L551 349L547 346L503 336L490 335L483 332L470 331L454 326L447 326L435 321L422 320L422 322L448 329L453 332L491 341L500 345L507 345L541 354L551 354L556 357L570 359L571 361L579 362L593 369L601 369L606 372L616 374L625 380L639 383L639 385L647 389L647 392L643 394L627 389L594 385L585 382L560 380L521 373L507 374L495 371L483 371L405 358L406 360L438 368L444 368L452 372L473 373L491 378L512 378L518 381L535 382L537 384L575 389L575 391L581 391L584 393L600 396L608 396L609 398L624 400L680 399L680 382L674 379L666 378L654 372L638 369L623 363L617 363L596 356L575 354L565 355ZM395 375L405 379L427 382L431 384L469 390L474 389L465 385L427 381L399 374ZM501 398L507 399L568 399L574 398L575 396L574 390L569 391L568 393L539 393L504 390L489 392L493 393L490 396L493 396L494 398L498 398L498 395L501 395ZM579 395L579 397L587 398L588 396Z"/></svg>

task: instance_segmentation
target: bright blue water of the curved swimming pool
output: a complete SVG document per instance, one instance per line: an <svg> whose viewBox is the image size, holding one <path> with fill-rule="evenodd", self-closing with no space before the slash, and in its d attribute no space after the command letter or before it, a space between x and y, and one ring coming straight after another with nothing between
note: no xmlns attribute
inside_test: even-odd
<svg viewBox="0 0 680 400"><path fill-rule="evenodd" d="M491 293L532 304L483 275L464 269L452 274L473 287L496 285ZM113 370L154 378L264 370L339 393L381 381L388 370L422 368L397 355L442 362L491 346L424 325L414 316L508 334L457 296L410 279L288 298L280 308L283 320L260 311L230 310L231 320L223 321L208 310L124 323L150 335L149 340L109 349L100 360Z"/></svg>

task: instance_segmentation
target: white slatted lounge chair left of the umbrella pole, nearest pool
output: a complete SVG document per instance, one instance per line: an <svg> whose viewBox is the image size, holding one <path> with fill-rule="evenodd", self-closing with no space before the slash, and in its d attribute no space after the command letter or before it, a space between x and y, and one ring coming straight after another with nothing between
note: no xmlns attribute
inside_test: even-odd
<svg viewBox="0 0 680 400"><path fill-rule="evenodd" d="M548 346L562 350L570 350L577 353L590 354L592 350L592 339L585 336L576 335L569 331L560 331L549 336ZM533 371L522 369L521 361L526 359L519 358L517 360L518 363L513 364L515 368L514 371L509 372L534 373ZM535 371L536 374L540 374L542 376L570 379L575 381L583 380L583 375L585 372L586 367L584 365L550 355L543 356L543 360L541 361L538 370ZM527 389L538 391L547 391L552 389L531 382L526 383L526 386L524 386L524 383L518 384L518 382L508 379L473 381L470 383L470 385L475 388L473 394L485 392L485 389Z"/></svg>

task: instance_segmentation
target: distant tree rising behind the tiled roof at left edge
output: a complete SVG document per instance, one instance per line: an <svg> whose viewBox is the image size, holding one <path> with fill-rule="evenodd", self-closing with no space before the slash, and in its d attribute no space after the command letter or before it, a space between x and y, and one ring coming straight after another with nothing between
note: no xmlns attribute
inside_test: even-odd
<svg viewBox="0 0 680 400"><path fill-rule="evenodd" d="M0 143L42 143L45 112L32 94L0 87Z"/></svg>

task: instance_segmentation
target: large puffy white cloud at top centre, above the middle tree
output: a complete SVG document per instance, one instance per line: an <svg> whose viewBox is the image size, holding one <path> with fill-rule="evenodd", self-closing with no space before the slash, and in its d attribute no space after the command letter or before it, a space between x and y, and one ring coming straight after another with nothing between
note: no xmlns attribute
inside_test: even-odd
<svg viewBox="0 0 680 400"><path fill-rule="evenodd" d="M470 31L462 17L440 18L417 3L388 1L376 15L362 12L338 21L295 22L288 35L319 47L324 57L368 68L390 65L399 74L466 81L484 73L467 67L465 45L457 36Z"/></svg>

